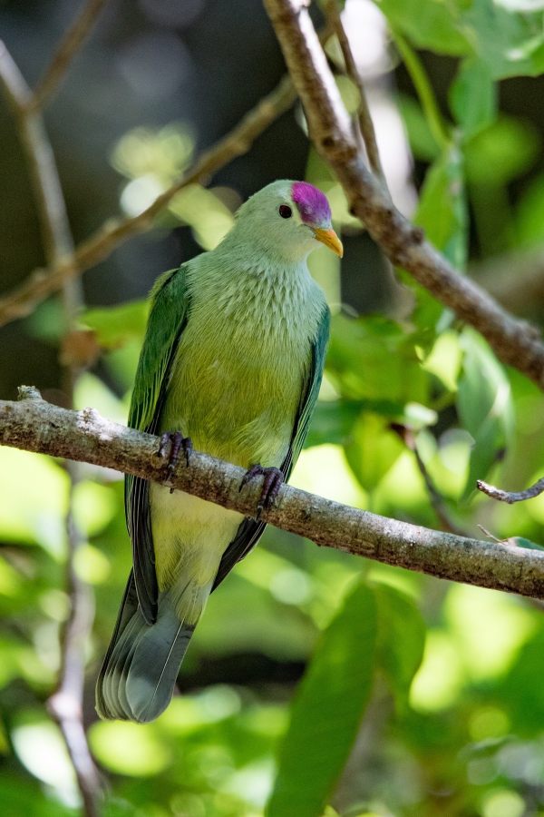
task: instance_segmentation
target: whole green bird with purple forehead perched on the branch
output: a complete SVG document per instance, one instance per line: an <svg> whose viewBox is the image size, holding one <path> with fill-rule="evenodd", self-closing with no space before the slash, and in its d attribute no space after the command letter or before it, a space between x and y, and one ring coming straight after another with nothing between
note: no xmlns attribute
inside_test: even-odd
<svg viewBox="0 0 544 817"><path fill-rule="evenodd" d="M280 180L250 196L219 245L160 276L129 426L160 435L166 477L192 447L263 475L255 517L125 477L132 568L96 684L103 719L148 723L170 704L211 591L262 535L300 453L321 384L330 314L306 264L343 255L326 196Z"/></svg>

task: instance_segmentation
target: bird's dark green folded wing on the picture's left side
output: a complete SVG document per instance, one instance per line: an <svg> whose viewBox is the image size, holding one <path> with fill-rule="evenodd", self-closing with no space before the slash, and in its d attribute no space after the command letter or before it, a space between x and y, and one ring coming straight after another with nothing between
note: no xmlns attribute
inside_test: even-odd
<svg viewBox="0 0 544 817"><path fill-rule="evenodd" d="M185 329L189 299L185 267L165 272L151 291L151 312L129 411L130 428L154 434L166 395L170 366ZM151 535L149 482L125 477L125 517L132 541L134 581L141 612L152 624L157 617L157 576Z"/></svg>

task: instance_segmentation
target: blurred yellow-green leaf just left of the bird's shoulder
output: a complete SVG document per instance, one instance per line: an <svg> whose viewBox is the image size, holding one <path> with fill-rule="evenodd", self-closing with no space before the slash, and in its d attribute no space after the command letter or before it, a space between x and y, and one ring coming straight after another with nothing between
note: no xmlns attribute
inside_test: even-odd
<svg viewBox="0 0 544 817"><path fill-rule="evenodd" d="M147 300L131 300L114 307L86 310L80 323L95 331L103 349L116 349L127 340L143 338L148 312Z"/></svg>

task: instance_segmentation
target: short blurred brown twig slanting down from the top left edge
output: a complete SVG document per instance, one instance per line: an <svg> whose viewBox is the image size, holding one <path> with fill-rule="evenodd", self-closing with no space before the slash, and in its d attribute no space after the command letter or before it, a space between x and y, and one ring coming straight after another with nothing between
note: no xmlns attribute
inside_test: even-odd
<svg viewBox="0 0 544 817"><path fill-rule="evenodd" d="M80 14L75 18L46 69L44 75L39 80L34 89L34 94L28 100L26 110L35 112L42 110L45 103L49 102L53 94L63 82L63 78L73 61L73 57L79 52L83 41L91 33L102 7L108 0L87 0Z"/></svg>

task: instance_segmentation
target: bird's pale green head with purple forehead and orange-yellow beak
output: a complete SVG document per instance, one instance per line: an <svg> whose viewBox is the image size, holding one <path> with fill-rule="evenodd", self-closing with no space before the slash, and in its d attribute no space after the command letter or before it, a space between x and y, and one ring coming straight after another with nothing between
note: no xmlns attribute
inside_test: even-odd
<svg viewBox="0 0 544 817"><path fill-rule="evenodd" d="M240 207L235 229L256 251L282 261L304 261L319 242L344 254L326 196L308 182L268 184Z"/></svg>

